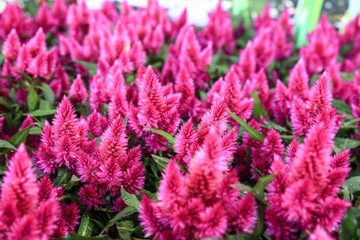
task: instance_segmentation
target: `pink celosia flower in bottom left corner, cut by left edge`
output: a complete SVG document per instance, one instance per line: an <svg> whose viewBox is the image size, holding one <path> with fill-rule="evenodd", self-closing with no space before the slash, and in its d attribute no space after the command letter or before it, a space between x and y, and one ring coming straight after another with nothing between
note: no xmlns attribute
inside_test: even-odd
<svg viewBox="0 0 360 240"><path fill-rule="evenodd" d="M0 197L0 228L4 239L47 239L56 230L58 202L38 201L38 184L25 145L20 145L5 171Z"/></svg>

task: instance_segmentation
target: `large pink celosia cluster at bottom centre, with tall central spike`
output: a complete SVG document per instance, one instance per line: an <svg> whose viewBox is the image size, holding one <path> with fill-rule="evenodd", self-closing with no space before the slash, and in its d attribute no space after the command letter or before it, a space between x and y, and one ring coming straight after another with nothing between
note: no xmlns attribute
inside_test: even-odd
<svg viewBox="0 0 360 240"><path fill-rule="evenodd" d="M240 233L254 228L254 198L239 199L239 192L230 187L237 178L234 172L226 173L228 158L222 151L219 135L212 128L191 160L189 173L184 175L175 162L169 162L158 202L143 195L140 219L147 236L202 239L222 237L228 229Z"/></svg>

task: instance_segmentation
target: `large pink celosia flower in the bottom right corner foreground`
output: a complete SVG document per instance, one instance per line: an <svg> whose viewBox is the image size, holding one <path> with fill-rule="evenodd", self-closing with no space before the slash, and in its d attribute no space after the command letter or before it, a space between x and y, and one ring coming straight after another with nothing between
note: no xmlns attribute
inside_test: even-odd
<svg viewBox="0 0 360 240"><path fill-rule="evenodd" d="M281 236L275 229L286 234L293 224L305 231L320 227L331 234L337 230L350 205L337 197L337 192L350 169L348 152L331 157L333 137L320 121L309 130L296 155L291 156L293 159L287 161L291 167L286 169L282 161L274 160L272 171L278 175L269 184L267 199L284 227L280 228L280 222L269 216L269 233L273 236Z"/></svg>

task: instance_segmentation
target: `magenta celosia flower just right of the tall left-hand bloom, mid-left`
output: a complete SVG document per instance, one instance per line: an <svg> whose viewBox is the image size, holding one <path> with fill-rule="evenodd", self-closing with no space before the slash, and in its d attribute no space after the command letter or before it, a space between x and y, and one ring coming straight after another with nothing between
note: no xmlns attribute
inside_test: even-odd
<svg viewBox="0 0 360 240"><path fill-rule="evenodd" d="M80 152L77 163L77 172L84 182L97 187L97 192L109 191L111 196L119 195L121 186L130 193L139 193L145 180L144 168L140 161L141 152L139 147L128 148L128 136L125 133L123 118L117 117L110 123L104 134L101 135L101 143L93 151ZM97 178L93 178L96 175ZM86 185L87 186L87 185ZM86 187L88 188L88 187ZM84 188L84 194L89 189ZM95 196L94 193L91 193ZM102 196L102 195L101 195ZM84 200L83 204L88 208L96 208L101 201L98 195ZM82 196L82 198L84 198ZM89 202L87 202L89 201Z"/></svg>

